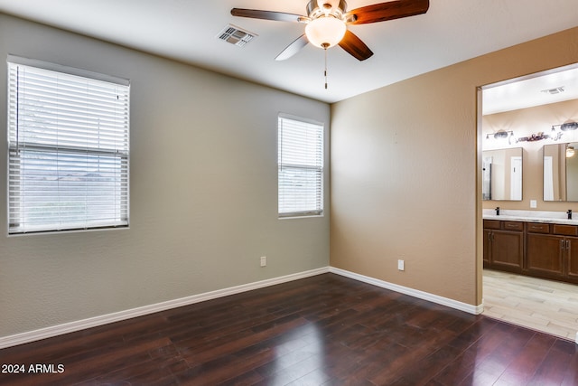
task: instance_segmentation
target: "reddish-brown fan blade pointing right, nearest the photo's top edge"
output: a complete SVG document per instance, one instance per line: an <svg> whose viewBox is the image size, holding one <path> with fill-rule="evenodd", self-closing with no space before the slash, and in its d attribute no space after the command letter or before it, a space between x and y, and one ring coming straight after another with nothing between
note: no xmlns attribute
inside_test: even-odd
<svg viewBox="0 0 578 386"><path fill-rule="evenodd" d="M378 23L425 14L429 7L429 0L395 0L356 8L348 12L346 17L350 20L348 24Z"/></svg>

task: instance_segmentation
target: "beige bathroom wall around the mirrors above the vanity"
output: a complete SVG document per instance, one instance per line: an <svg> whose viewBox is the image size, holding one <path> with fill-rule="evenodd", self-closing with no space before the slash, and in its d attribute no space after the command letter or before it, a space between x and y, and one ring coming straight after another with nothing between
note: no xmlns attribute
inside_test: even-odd
<svg viewBox="0 0 578 386"><path fill-rule="evenodd" d="M532 134L545 132L548 134L553 125L560 125L567 120L578 121L578 99L552 103L534 108L520 108L513 111L491 114L482 118L483 148L522 147L523 183L522 201L484 201L483 208L490 209L499 206L501 209L524 211L566 212L572 209L578 211L578 202L545 202L544 201L544 146L561 142L578 141L578 133L566 132L558 140L545 139L534 142L518 142L508 145L508 141L487 140L486 133L492 133L499 128L513 130L515 137L528 137ZM555 186L555 197L559 196L558 186ZM530 208L530 200L536 200L536 209Z"/></svg>

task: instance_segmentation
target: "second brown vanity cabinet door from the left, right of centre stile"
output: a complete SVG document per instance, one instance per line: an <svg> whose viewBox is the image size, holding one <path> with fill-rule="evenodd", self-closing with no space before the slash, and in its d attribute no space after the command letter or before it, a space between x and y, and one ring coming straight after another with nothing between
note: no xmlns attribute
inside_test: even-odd
<svg viewBox="0 0 578 386"><path fill-rule="evenodd" d="M564 275L562 236L528 233L526 236L526 268L545 278Z"/></svg>

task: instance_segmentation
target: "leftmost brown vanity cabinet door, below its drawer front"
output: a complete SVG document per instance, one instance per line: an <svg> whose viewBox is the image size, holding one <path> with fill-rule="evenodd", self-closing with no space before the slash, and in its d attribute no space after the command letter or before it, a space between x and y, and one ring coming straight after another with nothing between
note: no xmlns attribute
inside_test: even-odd
<svg viewBox="0 0 578 386"><path fill-rule="evenodd" d="M492 231L491 265L509 271L522 270L524 233L517 231Z"/></svg>

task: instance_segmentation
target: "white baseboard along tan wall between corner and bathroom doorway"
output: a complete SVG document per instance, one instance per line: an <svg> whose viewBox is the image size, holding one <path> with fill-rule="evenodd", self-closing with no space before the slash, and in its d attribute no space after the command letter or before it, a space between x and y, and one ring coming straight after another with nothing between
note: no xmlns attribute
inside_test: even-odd
<svg viewBox="0 0 578 386"><path fill-rule="evenodd" d="M473 315L480 315L483 312L483 305L472 306L467 303L462 303L457 300L453 300L447 297L439 297L437 295L430 294L428 292L420 291L410 287L398 286L387 281L379 280L377 278L369 278L368 276L359 275L354 272L350 272L340 268L330 267L329 271L331 273L344 276L346 278L353 278L364 283L368 283L377 287L391 289L392 291L399 292L401 294L409 295L410 297L417 297L420 299L427 300L428 302L436 303L442 306L449 306L460 311L467 312Z"/></svg>

